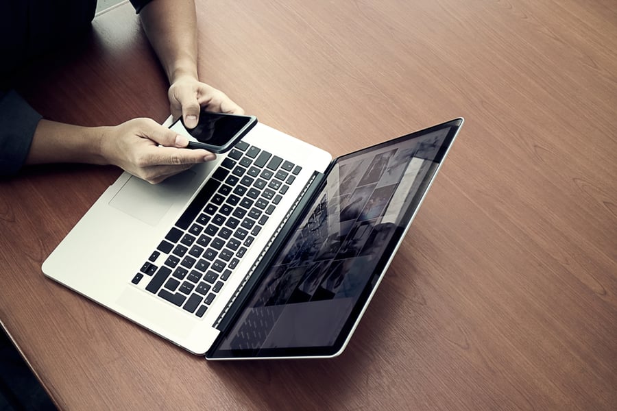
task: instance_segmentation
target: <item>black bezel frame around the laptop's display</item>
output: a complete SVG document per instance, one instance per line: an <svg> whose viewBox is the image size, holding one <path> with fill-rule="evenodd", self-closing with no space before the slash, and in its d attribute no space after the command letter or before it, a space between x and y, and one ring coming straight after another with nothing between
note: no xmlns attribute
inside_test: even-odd
<svg viewBox="0 0 617 411"><path fill-rule="evenodd" d="M339 162L340 160L347 160L350 158L354 158L356 156L364 155L370 151L379 151L381 149L385 149L391 145L396 145L402 140L411 140L413 138L419 138L426 134L430 134L436 132L440 129L444 129L446 127L450 127L450 130L444 139L444 142L441 144L437 155L435 155L435 159L433 160L433 164L429 166L429 169L422 180L422 184L416 191L413 199L411 199L409 206L404 212L402 212L402 216L400 217L401 224L394 229L394 233L392 234L389 242L385 246L385 249L376 263L375 269L370 276L370 279L367 281L365 288L361 291L359 298L357 299L354 307L352 308L347 320L343 327L341 327L341 331L339 332L339 336L335 340L333 345L323 346L323 347L279 347L279 348L260 348L260 349L220 349L220 345L226 336L232 331L233 325L235 321L228 321L227 325L221 330L221 334L213 344L213 347L206 354L206 358L208 359L266 359L266 358L330 358L339 355L343 349L348 344L354 329L359 323L363 312L366 310L370 300L372 299L376 289L378 288L378 284L383 279L391 260L394 258L394 254L396 253L398 247L402 240L404 239L407 230L409 229L411 222L413 221L415 214L417 214L420 205L424 197L426 196L426 192L428 192L428 188L430 188L433 183L441 164L443 163L444 158L446 157L450 147L452 146L452 142L455 140L457 133L461 125L463 124L463 119L454 119L451 121L447 121L446 123L441 123L439 125L434 125L433 127L428 127L427 129L422 129L418 132L413 132L411 134L406 134L404 136L400 136L398 138L394 138L392 140L387 140L385 142L380 142L376 145L372 145L370 147L366 147L364 149L360 149L358 151L354 151L352 153L348 153L346 155L341 155L334 160L332 160L330 167L328 167L328 171L326 171L326 176L332 170L332 168ZM324 178L325 181L325 178ZM302 215L306 214L306 212L310 212L313 202L315 199L319 198L324 186L317 188L316 192L307 193L311 195L311 201L306 201L306 206L303 210L301 210ZM298 216L296 216L298 217ZM302 218L296 218L297 223L300 223ZM295 227L294 227L295 228ZM293 231L293 229L291 230ZM267 273L266 269L262 270L261 274L264 276ZM261 282L261 277L256 279L253 282L254 286L250 290L243 290L243 294L245 298L242 299L243 306L236 307L236 312L241 312L244 308L244 304L250 301L250 297L258 290L258 284ZM230 310L232 311L232 310Z"/></svg>

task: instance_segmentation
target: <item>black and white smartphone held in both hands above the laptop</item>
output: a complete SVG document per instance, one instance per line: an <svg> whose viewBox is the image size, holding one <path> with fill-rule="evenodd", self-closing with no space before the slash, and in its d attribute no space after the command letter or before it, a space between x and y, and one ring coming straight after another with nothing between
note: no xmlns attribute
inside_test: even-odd
<svg viewBox="0 0 617 411"><path fill-rule="evenodd" d="M182 117L169 127L182 129L192 137L189 138L189 149L206 149L212 153L229 151L257 123L255 116L239 114L215 113L202 110L199 121L193 129L184 127Z"/></svg>

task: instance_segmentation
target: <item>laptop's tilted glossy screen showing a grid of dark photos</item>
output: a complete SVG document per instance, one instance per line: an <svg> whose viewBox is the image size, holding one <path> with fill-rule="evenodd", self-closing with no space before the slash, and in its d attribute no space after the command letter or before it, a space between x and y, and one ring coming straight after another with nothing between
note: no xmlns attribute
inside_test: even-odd
<svg viewBox="0 0 617 411"><path fill-rule="evenodd" d="M461 121L337 158L211 358L332 356L398 249Z"/></svg>

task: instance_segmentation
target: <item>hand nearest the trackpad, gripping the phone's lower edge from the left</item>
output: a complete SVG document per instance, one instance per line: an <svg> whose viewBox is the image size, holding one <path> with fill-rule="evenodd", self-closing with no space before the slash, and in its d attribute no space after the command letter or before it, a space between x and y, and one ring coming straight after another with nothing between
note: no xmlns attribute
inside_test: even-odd
<svg viewBox="0 0 617 411"><path fill-rule="evenodd" d="M101 155L151 184L190 169L193 164L214 160L204 149L186 149L189 140L152 119L133 119L101 127Z"/></svg>

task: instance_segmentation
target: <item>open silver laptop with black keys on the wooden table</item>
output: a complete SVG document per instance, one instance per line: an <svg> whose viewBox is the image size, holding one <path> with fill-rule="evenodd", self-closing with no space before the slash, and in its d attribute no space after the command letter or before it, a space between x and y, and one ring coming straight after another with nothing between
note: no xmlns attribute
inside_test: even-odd
<svg viewBox="0 0 617 411"><path fill-rule="evenodd" d="M161 184L123 173L43 273L208 360L338 356L462 124L332 160L258 123Z"/></svg>

